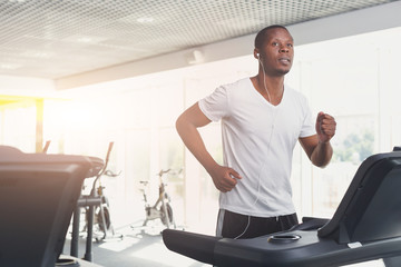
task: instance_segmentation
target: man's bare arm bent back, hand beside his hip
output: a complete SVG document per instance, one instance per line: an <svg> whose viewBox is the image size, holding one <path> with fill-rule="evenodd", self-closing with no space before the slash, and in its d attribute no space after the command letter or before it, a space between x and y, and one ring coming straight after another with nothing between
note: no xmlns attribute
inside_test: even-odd
<svg viewBox="0 0 401 267"><path fill-rule="evenodd" d="M178 117L176 128L185 146L211 175L215 187L225 192L235 187L235 178L241 179L241 176L232 168L219 166L207 151L197 128L211 122L195 103Z"/></svg>

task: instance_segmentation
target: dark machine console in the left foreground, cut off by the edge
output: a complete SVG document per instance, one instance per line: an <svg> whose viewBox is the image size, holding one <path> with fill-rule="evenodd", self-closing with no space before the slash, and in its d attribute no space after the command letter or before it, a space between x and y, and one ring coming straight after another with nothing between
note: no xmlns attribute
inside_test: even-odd
<svg viewBox="0 0 401 267"><path fill-rule="evenodd" d="M0 266L55 267L92 159L0 146Z"/></svg>

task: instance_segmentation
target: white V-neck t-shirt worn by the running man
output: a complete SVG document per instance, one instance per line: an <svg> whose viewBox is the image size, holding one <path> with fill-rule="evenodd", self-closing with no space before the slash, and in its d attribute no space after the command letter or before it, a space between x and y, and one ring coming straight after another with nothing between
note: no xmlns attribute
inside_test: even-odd
<svg viewBox="0 0 401 267"><path fill-rule="evenodd" d="M273 106L246 78L218 87L198 105L208 119L222 120L224 165L242 176L233 190L221 192L221 208L257 217L295 212L293 149L300 137L316 134L306 98L285 86Z"/></svg>

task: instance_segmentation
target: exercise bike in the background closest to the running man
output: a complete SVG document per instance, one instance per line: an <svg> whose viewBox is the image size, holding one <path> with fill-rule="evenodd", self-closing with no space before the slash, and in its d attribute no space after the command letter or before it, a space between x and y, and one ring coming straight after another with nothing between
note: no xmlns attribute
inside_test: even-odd
<svg viewBox="0 0 401 267"><path fill-rule="evenodd" d="M170 228L173 226L174 228L176 228L173 208L170 206L170 197L166 191L167 184L165 184L163 180L163 176L168 172L172 172L172 169L167 169L167 170L162 169L158 172L158 178L159 178L158 192L159 194L158 194L158 198L157 198L156 202L153 206L148 202L148 198L147 198L147 194L146 194L146 189L148 187L149 181L148 180L139 181L140 184L144 185L144 188L141 189L141 191L143 191L143 196L144 196L145 214L146 214L146 218L145 218L143 226L146 226L149 220L160 219L162 224L165 227Z"/></svg>

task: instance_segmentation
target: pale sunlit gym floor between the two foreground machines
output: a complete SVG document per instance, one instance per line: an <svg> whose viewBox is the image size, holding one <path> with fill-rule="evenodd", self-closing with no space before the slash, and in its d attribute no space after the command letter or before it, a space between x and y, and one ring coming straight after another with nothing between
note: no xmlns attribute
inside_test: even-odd
<svg viewBox="0 0 401 267"><path fill-rule="evenodd" d="M163 227L126 226L115 230L114 237L94 241L92 263L104 267L206 267L206 265L168 250L160 235ZM123 236L123 238L121 238ZM86 235L78 244L78 258L86 253ZM63 254L70 254L70 235L67 235Z"/></svg>

